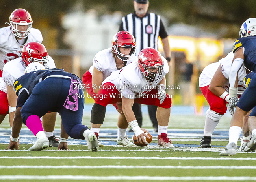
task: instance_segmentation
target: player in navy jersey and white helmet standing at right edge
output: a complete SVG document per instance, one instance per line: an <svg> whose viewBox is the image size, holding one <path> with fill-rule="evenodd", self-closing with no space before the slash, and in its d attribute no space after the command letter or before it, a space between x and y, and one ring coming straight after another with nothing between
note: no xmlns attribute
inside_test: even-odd
<svg viewBox="0 0 256 182"><path fill-rule="evenodd" d="M246 20L239 31L240 38L234 42L234 58L229 75L229 98L228 108L230 113L234 113L230 122L229 142L225 150L220 155L235 155L236 145L242 131L245 115L251 110L248 126L252 133L252 139L245 147L244 151L254 151L256 149L256 74L252 76L250 86L245 90L239 102L237 98L237 73L244 65L250 71L256 72L256 18ZM238 102L238 103L237 103ZM236 111L234 109L236 107Z"/></svg>

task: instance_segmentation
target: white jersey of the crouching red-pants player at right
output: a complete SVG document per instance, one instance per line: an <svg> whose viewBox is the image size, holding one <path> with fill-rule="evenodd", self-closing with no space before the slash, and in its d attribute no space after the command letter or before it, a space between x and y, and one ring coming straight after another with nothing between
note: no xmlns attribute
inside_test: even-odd
<svg viewBox="0 0 256 182"><path fill-rule="evenodd" d="M226 57L222 58L219 60L219 62L209 64L204 68L202 71L201 75L199 76L199 87L205 87L210 85L211 79L213 78L213 75L221 65L221 72L223 76L226 79L229 79L229 73L230 73L230 68L232 65L232 61L234 58L234 53L230 52ZM237 95L242 95L243 92L245 91L245 85L243 84L243 78L246 76L246 70L245 67L243 66L239 72L238 72L238 93ZM223 88L228 92L229 90L229 81L227 80L226 84L223 86Z"/></svg>

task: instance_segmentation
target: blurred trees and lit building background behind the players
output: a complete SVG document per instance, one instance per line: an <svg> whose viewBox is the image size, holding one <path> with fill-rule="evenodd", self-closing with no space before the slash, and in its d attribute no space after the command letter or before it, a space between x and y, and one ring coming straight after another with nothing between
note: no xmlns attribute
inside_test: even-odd
<svg viewBox="0 0 256 182"><path fill-rule="evenodd" d="M169 90L175 96L173 105L195 106L200 113L203 103L208 104L200 92L198 77L204 67L232 50L242 23L256 17L256 1L149 1L148 11L161 16L169 34L173 63L168 84L174 84ZM134 12L133 0L0 0L0 27L8 26L5 22L17 8L26 9L32 16L32 27L42 32L42 43L56 67L80 78L95 54L111 47L122 16ZM158 45L163 53L161 40ZM180 89L175 89L178 85Z"/></svg>

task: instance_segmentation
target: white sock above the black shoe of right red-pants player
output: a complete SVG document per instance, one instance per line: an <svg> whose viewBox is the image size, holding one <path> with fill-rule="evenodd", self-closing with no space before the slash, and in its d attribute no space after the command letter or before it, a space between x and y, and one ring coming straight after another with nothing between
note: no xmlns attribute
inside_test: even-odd
<svg viewBox="0 0 256 182"><path fill-rule="evenodd" d="M221 116L219 113L216 113L215 111L212 111L210 108L206 111L206 118L205 118L205 124L204 124L204 136L212 136L213 131L215 130L216 126L219 123L219 120L221 119Z"/></svg>

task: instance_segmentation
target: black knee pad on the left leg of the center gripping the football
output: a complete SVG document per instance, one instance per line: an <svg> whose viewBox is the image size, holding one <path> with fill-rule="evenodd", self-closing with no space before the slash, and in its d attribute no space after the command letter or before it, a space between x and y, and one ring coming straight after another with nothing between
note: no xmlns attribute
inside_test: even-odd
<svg viewBox="0 0 256 182"><path fill-rule="evenodd" d="M93 124L103 124L106 114L106 107L100 104L94 103L91 109L91 123Z"/></svg>

